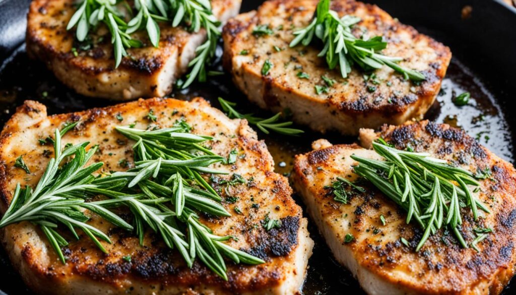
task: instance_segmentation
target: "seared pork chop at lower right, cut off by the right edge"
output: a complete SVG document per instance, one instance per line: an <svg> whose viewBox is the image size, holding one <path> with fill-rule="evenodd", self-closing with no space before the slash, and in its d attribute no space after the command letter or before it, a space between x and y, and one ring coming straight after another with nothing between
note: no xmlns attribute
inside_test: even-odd
<svg viewBox="0 0 516 295"><path fill-rule="evenodd" d="M357 179L352 154L379 159L378 154L358 145L317 142L318 149L296 157L292 179L335 258L369 294L500 293L516 265L514 167L448 125L423 121L384 127L378 135L397 148L411 146L473 173L488 169L490 178L479 180L477 197L491 213L482 212L475 222L471 210L462 209L461 232L468 243L475 238L475 228L492 228L493 234L477 244L477 252L462 248L453 234L440 230L415 252L423 230L414 222L406 224L406 212L374 185L361 181L358 185L365 192L350 191L347 204L335 201L327 187L336 177Z"/></svg>

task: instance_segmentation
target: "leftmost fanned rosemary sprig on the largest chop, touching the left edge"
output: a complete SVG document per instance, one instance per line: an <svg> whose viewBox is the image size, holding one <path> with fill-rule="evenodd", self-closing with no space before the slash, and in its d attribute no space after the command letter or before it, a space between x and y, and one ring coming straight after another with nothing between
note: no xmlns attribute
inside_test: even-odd
<svg viewBox="0 0 516 295"><path fill-rule="evenodd" d="M103 165L95 163L85 167L96 150L96 147L92 147L86 152L87 145L83 143L62 150L61 133L56 130L54 158L50 160L36 188L34 191L29 187L22 189L18 183L11 204L0 221L0 227L22 221L39 225L63 263L66 260L61 246L66 246L68 242L55 230L58 224L65 225L76 239L79 237L75 229L83 230L103 252L106 250L97 238L110 243L104 232L86 223L89 217L84 214L84 209L101 215L119 227L128 230L133 228L106 210L102 203L85 203L85 192L95 188L91 174ZM72 156L69 162L59 167L61 162Z"/></svg>

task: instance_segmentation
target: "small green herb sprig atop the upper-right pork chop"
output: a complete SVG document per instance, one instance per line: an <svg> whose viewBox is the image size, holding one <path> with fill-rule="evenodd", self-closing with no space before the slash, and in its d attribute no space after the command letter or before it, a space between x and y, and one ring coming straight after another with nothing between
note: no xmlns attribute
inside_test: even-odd
<svg viewBox="0 0 516 295"><path fill-rule="evenodd" d="M307 27L294 32L296 37L290 46L294 47L299 43L307 46L315 35L325 44L318 56L326 55L330 69L338 65L343 78L351 72L351 66L357 64L366 71L380 69L386 65L403 74L405 79L425 80L422 73L399 66L397 62L402 60L401 57L380 54L387 46L382 36L369 40L354 37L351 34L351 27L360 20L351 15L339 18L337 12L330 10L330 0L320 0L313 21Z"/></svg>

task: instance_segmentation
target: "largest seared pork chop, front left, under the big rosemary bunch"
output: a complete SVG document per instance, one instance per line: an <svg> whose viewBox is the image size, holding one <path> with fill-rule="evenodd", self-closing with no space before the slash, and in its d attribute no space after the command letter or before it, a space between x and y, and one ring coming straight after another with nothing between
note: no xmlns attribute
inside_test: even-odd
<svg viewBox="0 0 516 295"><path fill-rule="evenodd" d="M155 122L146 118L150 110ZM102 253L81 232L82 239L63 247L68 258L63 265L39 228L23 222L2 229L2 244L31 289L47 294L293 294L301 288L313 242L307 220L291 198L292 189L285 177L273 172L272 157L247 121L231 120L203 99L139 100L54 116L47 116L40 103L26 101L7 122L0 141L2 212L18 182L33 187L37 183L52 156L52 146L41 145L38 139L63 123L80 120L63 136L62 144L98 144L100 151L91 161L104 162L102 169L107 173L133 165L134 143L115 131L115 126L136 122L139 129L170 127L181 118L190 124L192 133L215 138L207 142L213 152L223 157L232 150L238 152L234 164L213 165L229 175L217 175L219 181L206 176L216 190L220 189L223 205L232 216L203 216L203 224L216 235L234 236L228 241L231 246L266 263L246 266L227 262L229 280L224 281L202 263L195 262L189 269L179 253L170 250L154 232L147 232L144 246L140 246L136 236L93 215L89 223L111 239L112 244L103 242L109 254ZM22 155L30 174L14 167L15 159ZM221 184L220 180L236 174L245 183L228 188ZM265 218L281 220L281 226L266 230L262 226ZM127 256L130 261L124 258Z"/></svg>

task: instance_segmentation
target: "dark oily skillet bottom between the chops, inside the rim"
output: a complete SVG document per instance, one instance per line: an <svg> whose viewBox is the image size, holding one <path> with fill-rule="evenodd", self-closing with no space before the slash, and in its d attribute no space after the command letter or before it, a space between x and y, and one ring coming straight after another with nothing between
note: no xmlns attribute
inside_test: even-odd
<svg viewBox="0 0 516 295"><path fill-rule="evenodd" d="M248 3L247 6L253 6L253 3ZM402 21L404 20L402 19ZM408 23L417 24L417 22ZM454 53L454 59L443 82L441 94L427 114L427 118L464 128L468 134L477 137L480 143L486 145L498 156L514 163L512 132L516 130L515 116L508 117L509 121L504 119L504 111L511 110L509 107L512 103L499 103L514 99L511 93L514 93L515 85L506 82L514 80L501 72L492 69L487 71L486 69L490 66L489 61L478 60L478 55L477 58L473 58L475 54L470 47L473 45L464 40L452 38L446 35L448 33L444 34L439 30L418 28L449 45ZM241 110L255 111L255 107L247 103L245 97L234 88L232 83L228 83L229 81L229 76L216 77L209 83L195 84L185 91L174 91L171 96L179 99L203 96L212 101L216 107L219 106L216 99L221 96L238 102L238 108ZM451 97L459 95L463 91L470 91L472 100L467 106L456 107L451 102ZM49 108L50 114L80 111L116 103L75 94L60 84L41 63L29 60L21 46L0 66L0 111L2 111L0 127L10 117L15 106L20 105L25 99L41 101ZM507 112L507 115L511 115L511 113ZM263 115L270 114L263 112ZM512 127L510 128L510 126ZM306 130L303 127L299 128ZM351 143L354 140L354 138L346 138L337 134L321 135L313 132L307 132L300 137L288 137L288 142L285 142L285 136L281 135L266 136L259 133L259 137L265 139L276 161L276 171L285 175L288 175L292 168L293 155L308 151L313 140L325 137L334 144ZM282 162L286 165L283 165ZM280 167L280 163L284 167ZM303 206L299 198L294 197L298 204ZM362 293L351 274L334 261L313 223L310 223L309 231L315 241L315 248L309 262L310 268L303 289L304 293L323 295L343 293L344 290L352 294ZM8 294L30 293L19 275L10 267L3 249L0 250L0 277L2 278L0 289ZM513 280L512 287L507 288L504 294L515 292L516 283Z"/></svg>

